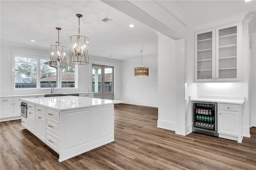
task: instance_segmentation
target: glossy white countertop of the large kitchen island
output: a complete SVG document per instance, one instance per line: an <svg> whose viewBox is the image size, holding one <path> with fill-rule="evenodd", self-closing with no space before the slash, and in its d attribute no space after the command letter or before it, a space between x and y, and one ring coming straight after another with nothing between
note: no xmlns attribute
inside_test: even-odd
<svg viewBox="0 0 256 170"><path fill-rule="evenodd" d="M96 99L78 96L38 97L24 98L21 100L24 102L32 103L34 105L46 107L48 109L54 109L56 111L122 103L122 101L116 100Z"/></svg>

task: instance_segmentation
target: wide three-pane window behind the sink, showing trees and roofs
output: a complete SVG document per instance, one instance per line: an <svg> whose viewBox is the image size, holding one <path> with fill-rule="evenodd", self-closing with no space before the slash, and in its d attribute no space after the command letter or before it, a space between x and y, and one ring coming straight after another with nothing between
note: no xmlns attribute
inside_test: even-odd
<svg viewBox="0 0 256 170"><path fill-rule="evenodd" d="M50 67L48 60L43 57L28 57L26 53L14 55L15 62L12 67L15 69L14 81L15 89L25 88L75 88L76 66L67 63L64 69Z"/></svg>

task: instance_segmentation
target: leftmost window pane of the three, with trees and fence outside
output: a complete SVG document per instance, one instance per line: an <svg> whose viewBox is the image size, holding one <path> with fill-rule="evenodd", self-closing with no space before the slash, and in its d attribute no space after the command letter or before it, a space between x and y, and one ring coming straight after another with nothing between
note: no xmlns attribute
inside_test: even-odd
<svg viewBox="0 0 256 170"><path fill-rule="evenodd" d="M37 59L15 57L15 89L36 88Z"/></svg>

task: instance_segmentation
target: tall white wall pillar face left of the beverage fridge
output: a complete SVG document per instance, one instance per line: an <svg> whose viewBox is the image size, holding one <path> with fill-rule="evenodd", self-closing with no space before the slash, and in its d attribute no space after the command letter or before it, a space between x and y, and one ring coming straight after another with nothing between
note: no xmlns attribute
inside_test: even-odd
<svg viewBox="0 0 256 170"><path fill-rule="evenodd" d="M175 41L158 35L158 121L157 127L175 130L176 55ZM184 64L184 63L182 63ZM184 78L184 77L183 77Z"/></svg>

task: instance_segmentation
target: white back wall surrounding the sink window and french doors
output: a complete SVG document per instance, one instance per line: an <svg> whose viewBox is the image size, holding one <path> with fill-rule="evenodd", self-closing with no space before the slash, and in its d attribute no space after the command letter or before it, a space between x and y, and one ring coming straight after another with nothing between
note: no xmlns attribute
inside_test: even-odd
<svg viewBox="0 0 256 170"><path fill-rule="evenodd" d="M22 95L22 94L47 94L50 93L50 88L47 89L14 89L12 84L12 62L14 62L14 53L21 51L20 53L25 53L28 55L38 55L49 59L48 49L27 46L22 44L15 44L14 42L4 42L1 40L1 55L0 55L0 95ZM36 50L35 50L36 49ZM68 92L87 92L92 91L92 63L110 65L114 66L114 99L121 99L121 63L120 61L114 60L104 60L90 57L90 64L88 65L78 65L78 88L65 88L65 89L54 89L54 93L68 93Z"/></svg>

